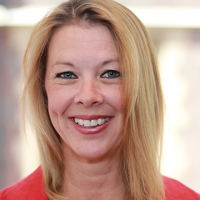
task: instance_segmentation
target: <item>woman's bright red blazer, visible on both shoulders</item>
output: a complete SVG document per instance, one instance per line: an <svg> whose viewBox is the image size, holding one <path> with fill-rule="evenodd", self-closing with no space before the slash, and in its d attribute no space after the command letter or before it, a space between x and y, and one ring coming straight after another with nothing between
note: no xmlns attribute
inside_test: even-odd
<svg viewBox="0 0 200 200"><path fill-rule="evenodd" d="M163 177L165 200L200 200L200 195L180 182ZM0 200L48 200L39 167L27 178L0 191Z"/></svg>

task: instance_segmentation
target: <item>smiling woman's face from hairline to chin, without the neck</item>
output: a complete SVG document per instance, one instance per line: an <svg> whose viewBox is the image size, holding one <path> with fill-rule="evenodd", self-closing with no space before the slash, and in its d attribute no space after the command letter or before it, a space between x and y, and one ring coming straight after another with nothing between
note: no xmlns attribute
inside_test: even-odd
<svg viewBox="0 0 200 200"><path fill-rule="evenodd" d="M112 156L122 142L119 54L101 25L60 28L49 45L48 111L65 153L87 160Z"/></svg>

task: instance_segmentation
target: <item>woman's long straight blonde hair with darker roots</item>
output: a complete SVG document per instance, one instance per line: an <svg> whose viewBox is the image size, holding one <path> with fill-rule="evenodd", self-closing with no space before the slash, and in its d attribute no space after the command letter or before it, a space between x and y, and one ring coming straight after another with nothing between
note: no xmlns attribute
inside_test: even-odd
<svg viewBox="0 0 200 200"><path fill-rule="evenodd" d="M49 118L44 88L48 45L60 27L83 23L108 27L119 50L125 102L121 174L127 198L161 200L163 96L154 48L140 20L112 0L60 4L35 26L27 45L22 113L24 119L27 112L30 114L37 136L46 194L49 199L62 199L64 177L60 137Z"/></svg>

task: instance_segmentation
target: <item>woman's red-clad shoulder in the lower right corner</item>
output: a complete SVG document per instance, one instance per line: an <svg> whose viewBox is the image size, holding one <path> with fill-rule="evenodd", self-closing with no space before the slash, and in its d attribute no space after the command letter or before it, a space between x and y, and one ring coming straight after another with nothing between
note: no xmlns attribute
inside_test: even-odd
<svg viewBox="0 0 200 200"><path fill-rule="evenodd" d="M163 182L166 200L200 200L200 194L197 194L179 181L163 177Z"/></svg>

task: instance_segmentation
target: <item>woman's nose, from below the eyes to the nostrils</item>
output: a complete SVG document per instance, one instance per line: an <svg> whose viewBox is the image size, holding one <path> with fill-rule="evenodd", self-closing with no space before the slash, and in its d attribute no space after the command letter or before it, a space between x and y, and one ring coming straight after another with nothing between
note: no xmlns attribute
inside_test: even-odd
<svg viewBox="0 0 200 200"><path fill-rule="evenodd" d="M77 93L74 98L76 104L82 104L85 107L100 105L103 102L100 83L95 80L85 80L79 83Z"/></svg>

